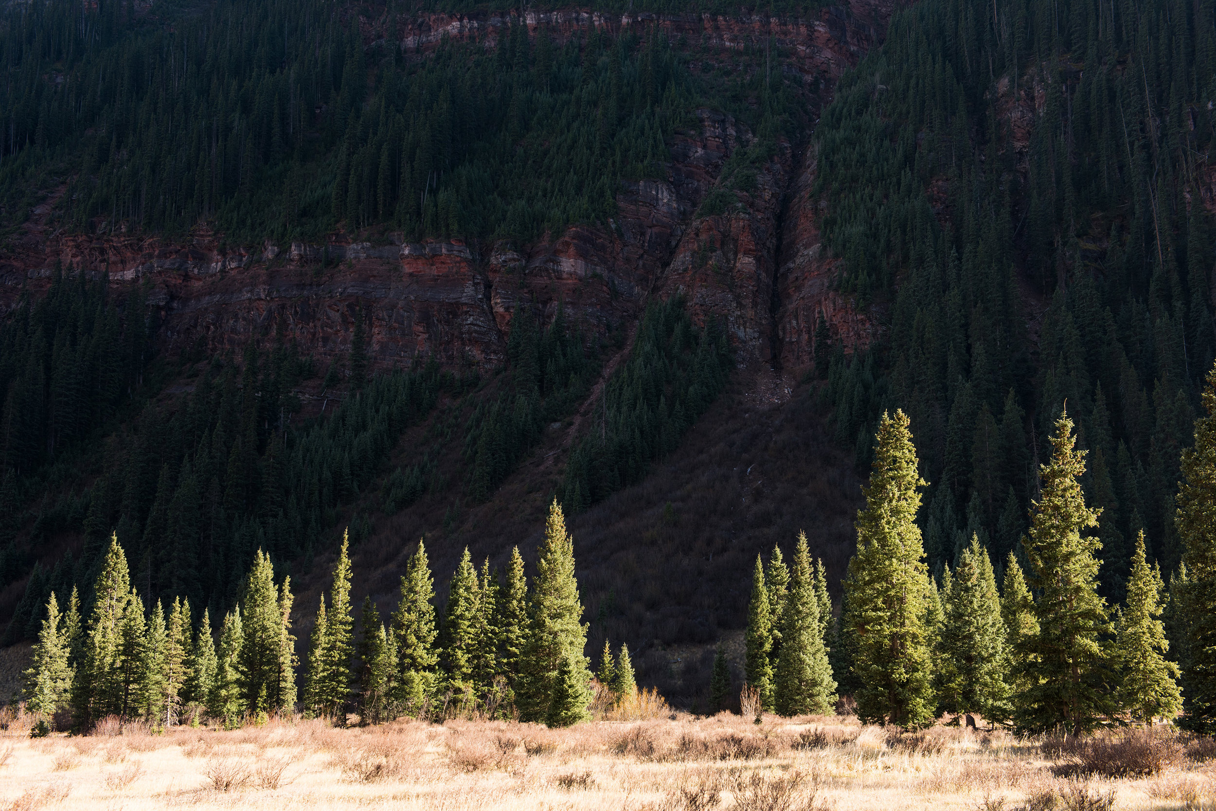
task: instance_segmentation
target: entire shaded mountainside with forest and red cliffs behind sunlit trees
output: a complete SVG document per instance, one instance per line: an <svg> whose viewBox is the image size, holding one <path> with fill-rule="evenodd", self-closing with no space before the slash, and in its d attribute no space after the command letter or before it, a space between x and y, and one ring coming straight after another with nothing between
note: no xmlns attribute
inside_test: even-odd
<svg viewBox="0 0 1216 811"><path fill-rule="evenodd" d="M940 572L973 533L1014 549L1066 404L1121 600L1138 529L1176 567L1216 356L1212 25L1165 0L7 7L6 640L111 532L145 605L218 617L258 549L313 605L349 527L387 605L420 537L439 573L502 567L557 497L591 648L691 705L758 551L806 528L839 594L896 407Z"/></svg>

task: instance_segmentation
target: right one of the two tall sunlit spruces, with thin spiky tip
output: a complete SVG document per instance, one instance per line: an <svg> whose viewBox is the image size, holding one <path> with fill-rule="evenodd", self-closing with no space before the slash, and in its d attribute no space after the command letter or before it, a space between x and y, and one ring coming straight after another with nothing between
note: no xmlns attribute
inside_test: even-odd
<svg viewBox="0 0 1216 811"><path fill-rule="evenodd" d="M1030 588L1036 592L1038 634L1023 642L1026 687L1015 696L1014 720L1025 731L1063 726L1077 735L1109 718L1114 684L1103 636L1114 630L1098 596L1098 511L1085 505L1077 481L1085 452L1074 449L1073 421L1060 413L1051 436L1052 458L1040 469L1042 497L1024 539Z"/></svg>

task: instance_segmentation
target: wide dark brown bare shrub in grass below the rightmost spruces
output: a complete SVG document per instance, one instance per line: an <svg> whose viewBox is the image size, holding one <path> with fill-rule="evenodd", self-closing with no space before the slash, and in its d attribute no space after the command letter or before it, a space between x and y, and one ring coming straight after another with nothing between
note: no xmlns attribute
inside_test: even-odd
<svg viewBox="0 0 1216 811"><path fill-rule="evenodd" d="M1122 736L1065 738L1043 744L1045 754L1060 760L1058 777L1150 777L1182 759L1182 744L1169 735L1133 730Z"/></svg>

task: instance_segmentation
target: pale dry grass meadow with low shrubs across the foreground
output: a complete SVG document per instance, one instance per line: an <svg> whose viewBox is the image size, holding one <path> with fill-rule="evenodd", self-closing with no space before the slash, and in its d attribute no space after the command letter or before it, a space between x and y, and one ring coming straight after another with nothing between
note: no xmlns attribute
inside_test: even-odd
<svg viewBox="0 0 1216 811"><path fill-rule="evenodd" d="M893 736L850 719L737 715L497 721L30 739L0 733L0 811L627 809L1103 811L1216 807L1216 745L1170 731L1080 745L934 727ZM1121 775L1121 776L1113 776Z"/></svg>

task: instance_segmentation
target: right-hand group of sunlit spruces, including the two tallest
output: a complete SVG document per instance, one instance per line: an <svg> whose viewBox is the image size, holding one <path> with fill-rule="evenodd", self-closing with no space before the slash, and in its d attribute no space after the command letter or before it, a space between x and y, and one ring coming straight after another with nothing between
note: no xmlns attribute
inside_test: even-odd
<svg viewBox="0 0 1216 811"><path fill-rule="evenodd" d="M1203 401L1181 458L1180 566L1167 586L1139 532L1118 606L1100 595L1102 507L1086 503L1086 452L1066 413L1017 549L993 563L973 534L936 578L917 523L927 482L910 419L883 414L837 622L805 537L792 572L779 549L756 560L747 682L764 709L829 711L839 688L863 721L905 728L974 713L1021 733L1158 719L1216 730L1216 369Z"/></svg>

